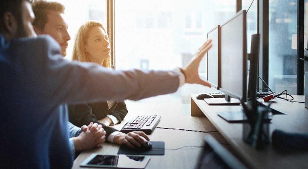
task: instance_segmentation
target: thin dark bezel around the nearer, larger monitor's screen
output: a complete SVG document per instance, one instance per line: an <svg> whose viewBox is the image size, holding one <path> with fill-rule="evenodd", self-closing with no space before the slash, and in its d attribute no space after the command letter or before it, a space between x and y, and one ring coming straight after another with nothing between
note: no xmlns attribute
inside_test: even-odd
<svg viewBox="0 0 308 169"><path fill-rule="evenodd" d="M241 10L241 11L237 12L237 14L235 16L233 16L228 21L221 24L220 25L220 31L221 31L221 27L225 26L226 24L231 22L233 19L240 17L241 15L243 16L243 32L242 32L243 33L243 74L242 74L242 76L243 76L242 95L243 96L240 96L236 93L230 92L227 89L221 88L221 86L220 86L219 90L221 92L225 93L226 98L227 98L227 95L228 95L230 97L233 97L233 98L236 98L236 99L239 99L239 100L242 99L243 101L246 101L246 99L247 99L247 29L246 29L247 25L246 25L246 10ZM220 32L220 35L221 35L221 32ZM221 41L221 36L220 36L220 41ZM220 50L221 50L221 48L220 48ZM220 65L220 68L221 68L221 65ZM221 70L220 70L220 73L221 73ZM222 78L221 74L220 74L220 78Z"/></svg>

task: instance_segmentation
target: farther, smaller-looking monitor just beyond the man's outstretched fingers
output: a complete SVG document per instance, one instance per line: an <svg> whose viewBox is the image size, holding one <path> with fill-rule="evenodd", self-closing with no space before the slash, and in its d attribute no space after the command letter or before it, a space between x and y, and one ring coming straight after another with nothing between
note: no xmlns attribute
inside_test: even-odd
<svg viewBox="0 0 308 169"><path fill-rule="evenodd" d="M220 61L220 26L216 26L214 29L210 30L207 33L207 38L212 39L212 49L207 53L207 81L211 83L211 85L219 89L220 87L220 69L219 69L219 61Z"/></svg>

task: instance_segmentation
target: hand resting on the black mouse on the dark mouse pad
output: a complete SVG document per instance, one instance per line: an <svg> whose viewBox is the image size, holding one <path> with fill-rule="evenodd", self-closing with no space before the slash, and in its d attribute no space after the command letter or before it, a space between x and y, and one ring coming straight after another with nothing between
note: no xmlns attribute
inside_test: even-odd
<svg viewBox="0 0 308 169"><path fill-rule="evenodd" d="M138 140L138 141L137 141ZM113 142L119 145L126 144L128 147L141 147L140 143L146 144L150 140L144 132L134 131L127 134L120 133L115 135Z"/></svg>

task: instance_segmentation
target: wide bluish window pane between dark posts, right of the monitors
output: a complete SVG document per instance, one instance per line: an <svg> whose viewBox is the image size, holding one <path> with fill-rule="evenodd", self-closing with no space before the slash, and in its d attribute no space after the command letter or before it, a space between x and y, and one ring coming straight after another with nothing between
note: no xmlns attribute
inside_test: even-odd
<svg viewBox="0 0 308 169"><path fill-rule="evenodd" d="M269 1L269 86L274 92L296 94L297 51L292 36L297 34L297 1ZM295 40L296 41L296 40Z"/></svg>

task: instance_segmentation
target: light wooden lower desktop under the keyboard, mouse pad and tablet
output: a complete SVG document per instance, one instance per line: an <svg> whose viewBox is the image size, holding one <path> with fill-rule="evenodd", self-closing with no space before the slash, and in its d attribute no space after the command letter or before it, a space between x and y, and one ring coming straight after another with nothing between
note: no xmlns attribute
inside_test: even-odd
<svg viewBox="0 0 308 169"><path fill-rule="evenodd" d="M136 114L130 111L124 118L121 124L117 124L114 127L121 129L128 120L136 116ZM164 128L181 128L188 130L200 130L200 131L216 131L217 129L211 124L211 122L204 117L192 117L192 116L179 116L177 112L160 112L156 113L161 116L161 120L158 123L158 127ZM143 114L144 115L144 114ZM149 135L151 141L164 141L165 148L179 148L184 146L202 146L203 138L208 133L201 132L188 132L180 130L167 130L156 128L151 135ZM226 143L219 132L211 133L211 135L220 143ZM228 146L228 145L227 145ZM79 164L84 159L89 157L92 153L113 154L116 155L119 150L119 145L112 143L103 143L103 147L98 149L92 149L83 151L77 159L75 159L72 168L80 168ZM165 150L165 155L151 155L150 161L146 169L192 169L195 167L202 147L186 147L179 150Z"/></svg>

